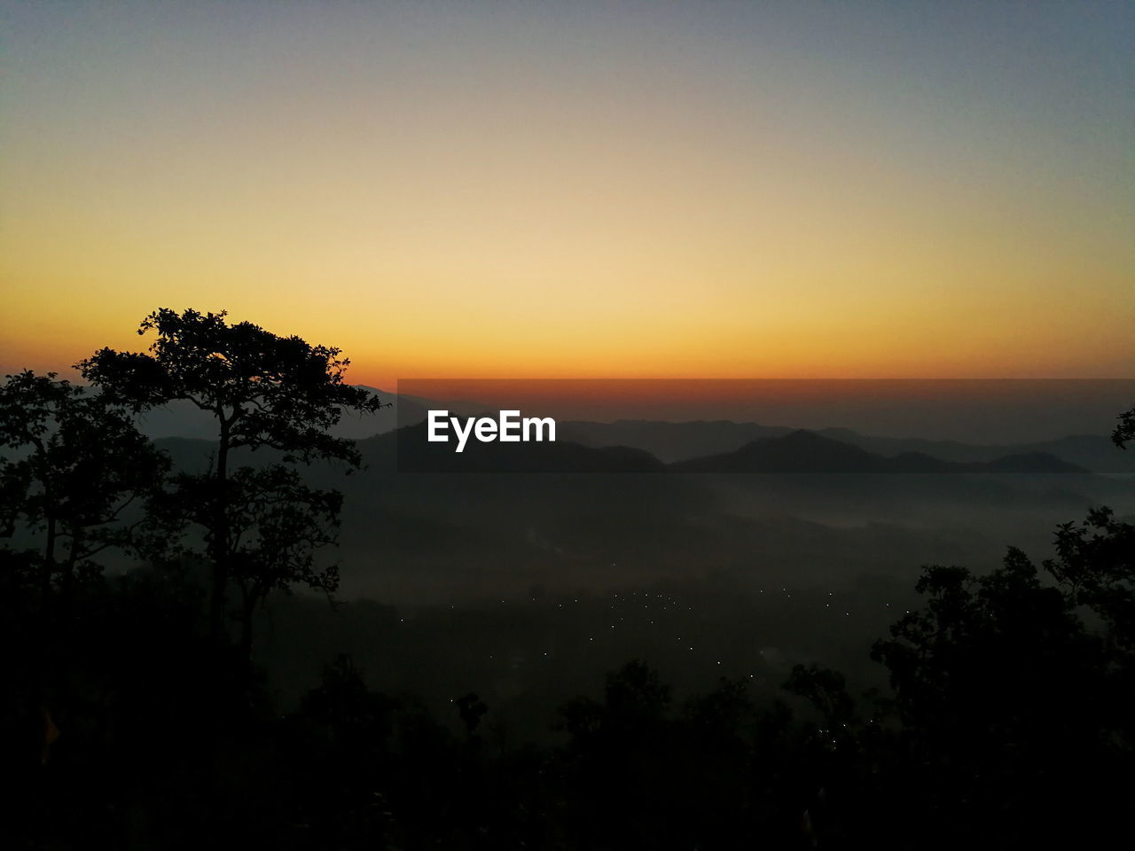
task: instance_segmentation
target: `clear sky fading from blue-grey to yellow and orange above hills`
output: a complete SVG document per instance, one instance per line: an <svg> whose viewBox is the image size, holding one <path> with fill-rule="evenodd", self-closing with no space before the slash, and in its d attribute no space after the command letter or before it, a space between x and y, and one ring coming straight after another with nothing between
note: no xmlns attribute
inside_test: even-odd
<svg viewBox="0 0 1135 851"><path fill-rule="evenodd" d="M1133 3L0 8L5 371L1135 374Z"/></svg>

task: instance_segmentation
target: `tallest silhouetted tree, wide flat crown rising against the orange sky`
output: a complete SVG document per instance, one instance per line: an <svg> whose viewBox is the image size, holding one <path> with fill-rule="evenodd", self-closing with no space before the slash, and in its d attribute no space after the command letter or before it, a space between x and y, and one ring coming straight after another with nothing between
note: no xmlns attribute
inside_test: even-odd
<svg viewBox="0 0 1135 851"><path fill-rule="evenodd" d="M312 346L295 336L279 337L251 322L230 326L225 317L224 311L202 314L161 309L138 328L140 335L157 334L148 353L103 348L79 364L84 378L136 411L183 399L216 421L212 469L200 477L200 487L190 486L187 478L180 480L186 500L193 503L191 513L207 529L212 565L210 632L215 638L224 632L230 580L242 576L253 597L281 582L306 581L306 567L297 566L306 563L306 556L292 556L323 542L322 537L311 534L309 524L287 545L281 537L286 528L277 523L261 534L261 551L250 556L236 531L242 522L241 505L249 499L263 505L269 497L263 480L247 473L234 475L230 453L242 447L270 447L281 450L287 462L339 460L358 466L354 445L329 430L344 410L373 412L381 406L367 390L343 382L350 361L339 356L338 348ZM277 496L287 491L297 496L294 482L286 481L284 473L276 471L270 478L283 487ZM326 509L331 507L328 498L314 491L306 496L309 508L326 519ZM318 542L312 544L312 538ZM272 565L267 568L268 576L250 580L253 568L284 550L292 558L289 566ZM318 579L317 587L325 585L325 574L310 575Z"/></svg>

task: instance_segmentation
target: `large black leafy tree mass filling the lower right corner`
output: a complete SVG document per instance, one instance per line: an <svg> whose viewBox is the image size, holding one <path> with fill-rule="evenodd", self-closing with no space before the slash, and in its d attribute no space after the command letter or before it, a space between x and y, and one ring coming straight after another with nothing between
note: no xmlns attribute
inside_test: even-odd
<svg viewBox="0 0 1135 851"><path fill-rule="evenodd" d="M1111 673L1129 662L1118 631L1109 647L1082 615L1129 625L1132 529L1107 511L1088 525L1101 531L1059 528L1045 562L1056 584L1015 548L985 576L927 567L926 605L872 651L894 689L902 811L919 812L936 842L1088 835L1100 821L1074 814L1110 815L1129 794L1110 780L1130 759L1135 702Z"/></svg>

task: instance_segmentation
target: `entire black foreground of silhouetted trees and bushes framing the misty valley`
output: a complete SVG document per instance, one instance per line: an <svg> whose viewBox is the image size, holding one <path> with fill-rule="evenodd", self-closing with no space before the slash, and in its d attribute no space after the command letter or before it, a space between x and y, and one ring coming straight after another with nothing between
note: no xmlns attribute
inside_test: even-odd
<svg viewBox="0 0 1135 851"><path fill-rule="evenodd" d="M781 700L722 680L678 701L649 660L565 702L552 743L388 694L348 657L287 711L252 616L333 595L340 498L296 464L358 463L327 437L375 403L331 348L159 311L149 354L104 349L92 390L0 388L0 706L6 848L737 849L1105 846L1135 807L1135 526L1108 509L973 575L932 566L923 605L852 694L797 666ZM191 399L208 470L174 472L132 416ZM1135 438L1120 418L1118 446ZM229 450L281 458L232 469ZM111 553L140 566L109 575Z"/></svg>

